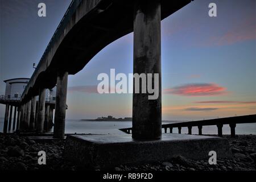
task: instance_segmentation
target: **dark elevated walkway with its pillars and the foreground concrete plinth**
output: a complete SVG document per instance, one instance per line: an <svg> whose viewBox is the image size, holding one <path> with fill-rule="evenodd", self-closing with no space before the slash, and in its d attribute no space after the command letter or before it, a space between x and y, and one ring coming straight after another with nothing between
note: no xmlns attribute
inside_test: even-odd
<svg viewBox="0 0 256 182"><path fill-rule="evenodd" d="M133 72L158 74L158 89L161 90L160 22L190 2L73 0L20 98L22 129L26 131L30 127L31 108L35 107L35 97L39 96L36 132L44 132L48 122L46 89L56 86L53 137L63 139L68 75L75 75L101 49L130 32L134 32ZM154 81L151 84L155 86ZM146 81L146 88L148 86ZM211 150L217 150L219 158L230 158L228 141L223 138L162 136L162 95L159 92L158 98L148 100L150 95L133 93L132 136L68 135L64 158L92 167L166 160L177 154L206 159Z"/></svg>

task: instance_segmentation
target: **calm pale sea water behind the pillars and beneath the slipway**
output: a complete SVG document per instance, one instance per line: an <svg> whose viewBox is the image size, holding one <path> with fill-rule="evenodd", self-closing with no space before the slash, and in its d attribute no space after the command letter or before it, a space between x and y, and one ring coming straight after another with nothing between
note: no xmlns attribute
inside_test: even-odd
<svg viewBox="0 0 256 182"><path fill-rule="evenodd" d="M163 122L167 124L171 122ZM13 127L13 126L12 126ZM67 120L65 124L65 133L68 134L124 134L118 129L131 127L130 121L80 121L80 120ZM0 131L3 131L3 118L0 118ZM10 131L12 132L12 131ZM169 130L167 130L169 132ZM164 130L163 130L164 133ZM177 129L173 133L178 133ZM187 128L182 128L181 133L188 133ZM192 127L192 134L198 134L197 127ZM203 126L203 134L217 134L217 126ZM223 134L230 134L230 127L223 126ZM236 127L236 134L254 134L256 135L256 123L238 124Z"/></svg>

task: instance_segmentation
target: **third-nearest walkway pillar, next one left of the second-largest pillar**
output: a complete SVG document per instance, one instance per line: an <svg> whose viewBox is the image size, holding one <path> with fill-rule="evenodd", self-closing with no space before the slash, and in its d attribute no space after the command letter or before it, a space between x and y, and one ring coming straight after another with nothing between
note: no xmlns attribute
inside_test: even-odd
<svg viewBox="0 0 256 182"><path fill-rule="evenodd" d="M46 110L46 89L39 90L39 104L38 104L38 119L36 124L36 132L43 133L44 131L44 114Z"/></svg>

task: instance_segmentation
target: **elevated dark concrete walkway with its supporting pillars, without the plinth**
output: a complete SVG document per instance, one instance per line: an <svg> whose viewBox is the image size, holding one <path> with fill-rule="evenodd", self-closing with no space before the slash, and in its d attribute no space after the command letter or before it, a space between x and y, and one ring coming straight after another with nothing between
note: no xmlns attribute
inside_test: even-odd
<svg viewBox="0 0 256 182"><path fill-rule="evenodd" d="M36 123L43 132L45 92L55 85L55 126L53 137L63 138L68 75L75 75L102 48L134 31L134 73L157 73L161 90L160 21L190 0L74 0L48 44L38 67L28 82L21 104L23 129L29 125L32 98L39 95ZM133 138L160 139L162 97L148 100L149 93L133 94ZM48 111L47 111L48 113ZM47 118L47 117L46 117Z"/></svg>

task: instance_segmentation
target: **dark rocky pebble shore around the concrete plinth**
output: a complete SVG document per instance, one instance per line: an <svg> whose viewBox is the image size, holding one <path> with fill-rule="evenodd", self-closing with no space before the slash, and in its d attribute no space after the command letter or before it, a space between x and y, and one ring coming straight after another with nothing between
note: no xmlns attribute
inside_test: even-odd
<svg viewBox="0 0 256 182"><path fill-rule="evenodd" d="M217 159L217 165L209 165L208 160L190 160L177 156L166 162L143 165L121 165L115 171L255 171L256 135L238 135L229 140L233 159ZM65 162L62 158L64 140L35 142L15 134L0 134L0 170L78 170L84 169ZM46 165L38 164L38 152L47 154Z"/></svg>

